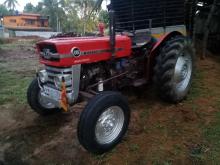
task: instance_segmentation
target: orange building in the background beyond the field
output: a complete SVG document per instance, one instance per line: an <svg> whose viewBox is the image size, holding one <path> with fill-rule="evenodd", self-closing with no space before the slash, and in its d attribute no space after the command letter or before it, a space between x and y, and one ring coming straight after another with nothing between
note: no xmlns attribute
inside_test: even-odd
<svg viewBox="0 0 220 165"><path fill-rule="evenodd" d="M3 16L3 26L13 31L51 31L49 16L40 14L20 13Z"/></svg>

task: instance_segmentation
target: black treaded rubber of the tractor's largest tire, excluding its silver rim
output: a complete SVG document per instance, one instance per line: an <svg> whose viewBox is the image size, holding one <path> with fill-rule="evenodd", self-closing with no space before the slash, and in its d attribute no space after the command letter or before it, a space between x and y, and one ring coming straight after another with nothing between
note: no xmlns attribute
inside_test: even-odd
<svg viewBox="0 0 220 165"><path fill-rule="evenodd" d="M174 85L174 69L181 51L190 53L192 58L192 75L185 91L178 93ZM160 97L171 103L178 103L184 100L190 90L194 75L195 50L189 39L184 36L176 36L167 41L160 54L156 58L154 67L154 83L157 86Z"/></svg>

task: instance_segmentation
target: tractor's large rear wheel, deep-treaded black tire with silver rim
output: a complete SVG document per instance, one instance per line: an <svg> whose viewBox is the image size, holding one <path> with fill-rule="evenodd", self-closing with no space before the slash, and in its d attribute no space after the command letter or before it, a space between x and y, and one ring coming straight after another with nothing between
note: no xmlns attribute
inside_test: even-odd
<svg viewBox="0 0 220 165"><path fill-rule="evenodd" d="M178 103L186 98L194 74L194 48L183 36L163 46L154 67L154 82L165 101Z"/></svg>

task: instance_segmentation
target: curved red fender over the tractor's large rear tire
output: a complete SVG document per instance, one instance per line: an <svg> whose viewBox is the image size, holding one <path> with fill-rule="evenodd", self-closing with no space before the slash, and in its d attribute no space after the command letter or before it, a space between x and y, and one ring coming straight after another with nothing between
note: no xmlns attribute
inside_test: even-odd
<svg viewBox="0 0 220 165"><path fill-rule="evenodd" d="M175 36L183 36L182 33L178 31L173 31L171 33L168 33L164 36L162 36L156 44L153 46L153 48L150 51L150 55L148 57L148 68L147 68L147 79L148 81L151 80L151 77L153 75L153 66L155 64L155 57L160 53L161 46L168 40L170 40L172 37Z"/></svg>

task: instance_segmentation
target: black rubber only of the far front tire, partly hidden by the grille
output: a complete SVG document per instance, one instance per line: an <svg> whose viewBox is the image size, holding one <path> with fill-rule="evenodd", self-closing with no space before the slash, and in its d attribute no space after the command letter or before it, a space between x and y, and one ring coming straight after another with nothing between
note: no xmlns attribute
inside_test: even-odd
<svg viewBox="0 0 220 165"><path fill-rule="evenodd" d="M43 107L38 101L38 94L40 92L40 87L38 85L38 80L35 78L28 87L27 90L27 101L32 110L42 116L52 115L54 113L60 112L59 108L47 109Z"/></svg>

